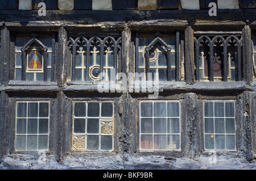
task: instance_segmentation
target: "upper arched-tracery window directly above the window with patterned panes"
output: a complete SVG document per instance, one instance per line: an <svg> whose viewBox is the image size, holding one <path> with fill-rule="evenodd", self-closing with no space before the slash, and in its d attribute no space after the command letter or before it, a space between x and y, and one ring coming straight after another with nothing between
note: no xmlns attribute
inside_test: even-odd
<svg viewBox="0 0 256 181"><path fill-rule="evenodd" d="M72 81L115 81L118 60L121 60L121 37L71 36L69 46Z"/></svg>

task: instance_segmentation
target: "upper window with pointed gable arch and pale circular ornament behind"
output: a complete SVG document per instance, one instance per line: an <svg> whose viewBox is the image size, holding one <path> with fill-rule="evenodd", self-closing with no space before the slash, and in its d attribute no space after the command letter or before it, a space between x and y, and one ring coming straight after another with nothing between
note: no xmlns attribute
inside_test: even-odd
<svg viewBox="0 0 256 181"><path fill-rule="evenodd" d="M135 73L144 73L153 81L179 81L180 33L166 35L155 33L135 34Z"/></svg>

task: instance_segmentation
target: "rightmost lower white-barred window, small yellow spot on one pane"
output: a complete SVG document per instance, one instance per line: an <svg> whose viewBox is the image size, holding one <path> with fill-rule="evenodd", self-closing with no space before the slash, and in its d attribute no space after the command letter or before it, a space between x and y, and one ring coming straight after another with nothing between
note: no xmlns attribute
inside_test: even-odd
<svg viewBox="0 0 256 181"><path fill-rule="evenodd" d="M236 118L233 101L204 102L205 150L236 150Z"/></svg>

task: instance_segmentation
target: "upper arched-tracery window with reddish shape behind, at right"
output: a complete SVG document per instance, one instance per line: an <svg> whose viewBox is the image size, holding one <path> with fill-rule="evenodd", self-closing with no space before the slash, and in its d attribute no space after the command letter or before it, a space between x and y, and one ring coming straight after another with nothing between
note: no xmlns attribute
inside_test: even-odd
<svg viewBox="0 0 256 181"><path fill-rule="evenodd" d="M241 34L195 32L197 81L241 81Z"/></svg>

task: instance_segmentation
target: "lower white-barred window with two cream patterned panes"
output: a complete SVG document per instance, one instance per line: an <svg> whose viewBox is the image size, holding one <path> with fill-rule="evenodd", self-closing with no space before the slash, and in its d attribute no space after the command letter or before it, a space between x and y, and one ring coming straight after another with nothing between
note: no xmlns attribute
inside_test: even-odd
<svg viewBox="0 0 256 181"><path fill-rule="evenodd" d="M114 104L74 102L72 150L113 150Z"/></svg>

